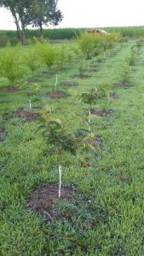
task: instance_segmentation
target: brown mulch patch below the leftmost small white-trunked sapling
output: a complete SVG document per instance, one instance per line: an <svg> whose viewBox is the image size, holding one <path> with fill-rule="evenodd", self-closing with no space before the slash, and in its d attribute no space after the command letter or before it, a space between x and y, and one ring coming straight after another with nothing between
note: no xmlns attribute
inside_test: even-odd
<svg viewBox="0 0 144 256"><path fill-rule="evenodd" d="M26 111L24 109L19 109L16 113L16 116L27 121L32 121L35 119L41 118L41 113L32 113L31 111Z"/></svg>

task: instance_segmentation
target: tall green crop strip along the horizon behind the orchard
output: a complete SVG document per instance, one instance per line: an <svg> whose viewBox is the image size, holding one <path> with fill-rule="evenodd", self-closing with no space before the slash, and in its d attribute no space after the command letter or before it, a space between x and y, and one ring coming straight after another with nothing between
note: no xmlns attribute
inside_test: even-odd
<svg viewBox="0 0 144 256"><path fill-rule="evenodd" d="M61 40L77 38L81 32L87 31L90 28L55 28L44 29L43 37L49 40ZM125 26L125 27L101 27L107 32L120 32L124 37L141 38L144 37L144 26ZM26 30L26 38L39 38L39 30ZM16 31L0 31L0 46L4 46L7 41L11 44L18 42Z"/></svg>

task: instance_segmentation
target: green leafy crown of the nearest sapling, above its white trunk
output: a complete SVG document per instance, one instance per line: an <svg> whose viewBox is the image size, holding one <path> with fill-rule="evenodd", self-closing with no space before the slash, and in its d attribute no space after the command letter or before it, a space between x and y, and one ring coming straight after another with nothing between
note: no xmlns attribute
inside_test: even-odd
<svg viewBox="0 0 144 256"><path fill-rule="evenodd" d="M56 151L60 156L66 151L70 154L76 155L78 148L84 148L85 150L95 148L89 144L89 139L94 139L94 135L88 130L78 129L75 133L69 132L67 125L64 125L60 119L55 118L52 115L49 105L45 110L40 111L42 113L41 125L38 126L38 132L43 134L46 143L53 148L53 154ZM80 131L86 131L86 136L77 137Z"/></svg>

